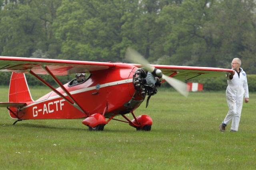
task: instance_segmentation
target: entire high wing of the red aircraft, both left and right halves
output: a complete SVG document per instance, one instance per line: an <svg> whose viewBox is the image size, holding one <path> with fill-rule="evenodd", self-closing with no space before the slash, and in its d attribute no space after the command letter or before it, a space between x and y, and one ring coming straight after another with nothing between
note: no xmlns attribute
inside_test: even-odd
<svg viewBox="0 0 256 170"><path fill-rule="evenodd" d="M93 61L74 61L60 59L41 59L41 58L25 58L25 57L3 57L0 56L0 71L28 73L32 70L36 74L45 74L47 71L43 68L47 66L54 75L68 75L79 72L90 72L96 70L104 70L114 67L115 63L93 62ZM141 67L139 64L132 64ZM221 69L212 67L190 67L175 65L152 65L157 69L161 69L165 75L173 75L172 77L179 80L189 80L193 78L216 77L226 72L232 72L232 69Z"/></svg>

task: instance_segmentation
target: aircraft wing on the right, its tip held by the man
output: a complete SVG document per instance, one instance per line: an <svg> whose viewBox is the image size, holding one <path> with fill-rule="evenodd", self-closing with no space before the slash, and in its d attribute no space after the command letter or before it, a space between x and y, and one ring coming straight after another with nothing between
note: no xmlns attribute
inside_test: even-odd
<svg viewBox="0 0 256 170"><path fill-rule="evenodd" d="M141 65L134 64L136 67ZM218 77L223 76L227 72L232 72L232 69L222 69L214 67L190 67L190 66L176 66L176 65L151 65L156 69L160 69L165 75L172 75L172 77L186 81L190 79Z"/></svg>

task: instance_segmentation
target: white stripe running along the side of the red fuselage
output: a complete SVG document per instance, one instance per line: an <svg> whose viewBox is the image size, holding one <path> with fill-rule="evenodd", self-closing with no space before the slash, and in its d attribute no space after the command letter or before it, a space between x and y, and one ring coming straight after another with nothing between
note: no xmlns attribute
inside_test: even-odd
<svg viewBox="0 0 256 170"><path fill-rule="evenodd" d="M109 87L109 86L112 86L112 85L120 85L120 84L124 84L124 83L132 83L132 79L125 79L125 80L105 83L105 84L100 85L100 88ZM96 86L87 87L87 88L79 89L79 90L74 90L74 91L71 91L70 94L74 95L74 94L78 94L78 93L83 93L85 91L91 91L91 90L94 90L94 89L96 89ZM66 93L62 93L62 95L67 96ZM36 101L35 103L32 103L30 105L27 105L27 106L23 107L22 109L25 109L27 107L30 107L30 106L33 106L33 105L37 105L39 103L43 103L43 102L46 102L46 101L49 101L49 100L58 99L58 98L61 98L61 97L59 95L56 95L56 96L50 97L48 99L44 99L44 100L41 100L41 101Z"/></svg>

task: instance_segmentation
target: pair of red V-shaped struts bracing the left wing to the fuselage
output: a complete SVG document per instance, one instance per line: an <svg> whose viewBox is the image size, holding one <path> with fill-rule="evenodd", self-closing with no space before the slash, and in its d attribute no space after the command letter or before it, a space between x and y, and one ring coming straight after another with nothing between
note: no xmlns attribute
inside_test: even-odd
<svg viewBox="0 0 256 170"><path fill-rule="evenodd" d="M50 85L49 83L47 83L46 81L44 81L44 79L42 79L41 77L39 77L36 73L34 73L33 71L29 71L30 74L34 75L34 77L36 77L38 80L42 81L42 83L44 83L46 86L50 87L50 89L52 89L55 93L57 93L57 95L59 95L60 97L62 97L65 101L67 101L68 103L70 103L71 105L73 105L74 107L76 107L78 110L80 110L82 113L89 115L86 111L84 111L84 109L82 109L82 107L80 107L80 105L78 105L76 103L76 101L74 100L74 98L71 96L71 94L66 90L66 88L60 83L60 81L52 74L52 72L48 69L47 66L42 66L54 79L54 81L60 85L60 87L62 88L62 90L68 95L68 97L70 97L70 99L66 96L64 96L62 93L60 93L59 91L57 91L54 87L52 87L52 85Z"/></svg>

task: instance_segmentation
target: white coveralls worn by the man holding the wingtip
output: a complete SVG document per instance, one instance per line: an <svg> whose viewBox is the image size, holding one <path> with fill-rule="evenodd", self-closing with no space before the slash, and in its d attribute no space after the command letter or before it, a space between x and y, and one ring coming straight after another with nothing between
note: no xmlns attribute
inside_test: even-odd
<svg viewBox="0 0 256 170"><path fill-rule="evenodd" d="M226 75L228 80L228 87L226 89L226 100L228 103L229 111L226 115L223 123L228 125L232 120L230 130L238 130L238 125L240 121L243 99L249 98L248 84L246 73L240 67L240 77L238 73L235 72L233 79L229 78L230 74Z"/></svg>

